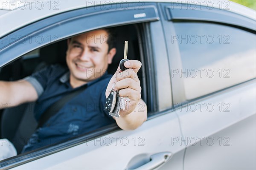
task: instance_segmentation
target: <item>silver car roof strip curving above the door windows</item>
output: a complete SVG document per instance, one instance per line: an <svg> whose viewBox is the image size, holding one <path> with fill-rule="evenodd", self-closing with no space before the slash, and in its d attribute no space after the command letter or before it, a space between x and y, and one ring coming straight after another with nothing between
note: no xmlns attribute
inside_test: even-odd
<svg viewBox="0 0 256 170"><path fill-rule="evenodd" d="M225 6L226 0L221 0L223 6ZM98 6L102 4L110 4L110 3L127 3L127 1L88 1L88 0L59 0L53 1L58 2L57 4L52 4L52 7L42 8L38 10L41 5L48 7L50 1L1 1L0 5L0 37L4 37L5 35L21 28L23 26L29 25L30 23L34 23L38 20L42 20L44 18L60 14L66 11L72 11L78 8L85 8L91 6ZM139 1L142 2L142 1ZM138 3L139 3L138 2ZM185 1L175 1L175 0L143 0L143 2L163 2L163 3L187 3L187 4L197 4L202 6L207 6L208 2L214 3L214 7L219 7L220 1L194 1L194 0L186 0ZM242 16L248 17L250 19L256 20L256 11L253 9L247 8L245 6L239 5L238 3L233 3L229 1L230 4L227 9L236 14L240 14ZM6 4L10 3L10 4ZM39 4L40 3L40 4ZM48 4L47 4L48 3ZM37 5L37 8L36 6ZM53 8L53 6L57 6L57 10ZM19 16L19 17L17 17ZM14 22L15 21L15 22Z"/></svg>

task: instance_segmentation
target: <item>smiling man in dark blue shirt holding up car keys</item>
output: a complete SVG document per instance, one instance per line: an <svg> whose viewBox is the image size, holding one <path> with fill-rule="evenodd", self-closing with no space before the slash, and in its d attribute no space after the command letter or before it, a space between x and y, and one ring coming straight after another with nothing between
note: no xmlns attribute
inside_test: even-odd
<svg viewBox="0 0 256 170"><path fill-rule="evenodd" d="M100 37L100 40L99 40ZM0 100L12 106L34 102L35 118L40 120L49 106L63 96L86 86L86 89L70 99L55 115L36 130L23 152L53 144L70 137L95 130L116 122L123 130L133 130L147 119L147 108L141 99L140 80L137 71L141 62L125 62L125 70L111 77L106 70L111 64L116 48L113 46L111 29L90 31L67 40L66 62L68 68L51 65L15 81L0 82ZM120 111L119 118L104 111L109 91L119 90L121 97L128 97L127 109ZM136 105L145 105L144 111L135 110Z"/></svg>

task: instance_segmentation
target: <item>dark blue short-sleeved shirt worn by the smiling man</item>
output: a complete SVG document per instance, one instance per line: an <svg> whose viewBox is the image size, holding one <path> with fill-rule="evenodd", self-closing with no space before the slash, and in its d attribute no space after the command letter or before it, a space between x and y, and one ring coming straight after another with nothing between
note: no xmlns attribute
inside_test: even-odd
<svg viewBox="0 0 256 170"><path fill-rule="evenodd" d="M54 116L40 127L29 139L22 152L34 150L61 140L87 133L99 127L115 123L105 112L105 91L111 75L88 82L87 88L70 99ZM38 121L44 111L53 103L76 90L70 85L70 72L61 65L48 66L25 78L38 93L35 104L35 119Z"/></svg>

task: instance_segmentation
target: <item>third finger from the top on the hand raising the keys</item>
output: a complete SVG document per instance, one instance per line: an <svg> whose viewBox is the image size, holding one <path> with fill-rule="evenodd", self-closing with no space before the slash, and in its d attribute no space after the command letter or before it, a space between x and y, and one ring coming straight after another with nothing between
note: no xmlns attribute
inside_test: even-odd
<svg viewBox="0 0 256 170"><path fill-rule="evenodd" d="M136 82L134 79L131 79L131 78L122 79L116 82L114 90L117 91L124 88L131 88L131 89L134 89L135 91L141 92L140 83Z"/></svg>

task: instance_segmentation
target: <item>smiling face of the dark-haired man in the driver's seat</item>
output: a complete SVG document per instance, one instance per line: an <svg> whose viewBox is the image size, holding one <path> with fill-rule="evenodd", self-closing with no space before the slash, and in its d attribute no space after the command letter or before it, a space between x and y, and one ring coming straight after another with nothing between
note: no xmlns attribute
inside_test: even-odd
<svg viewBox="0 0 256 170"><path fill-rule="evenodd" d="M111 64L116 49L108 52L108 33L90 31L68 40L66 62L70 69L70 83L80 86L101 77Z"/></svg>

